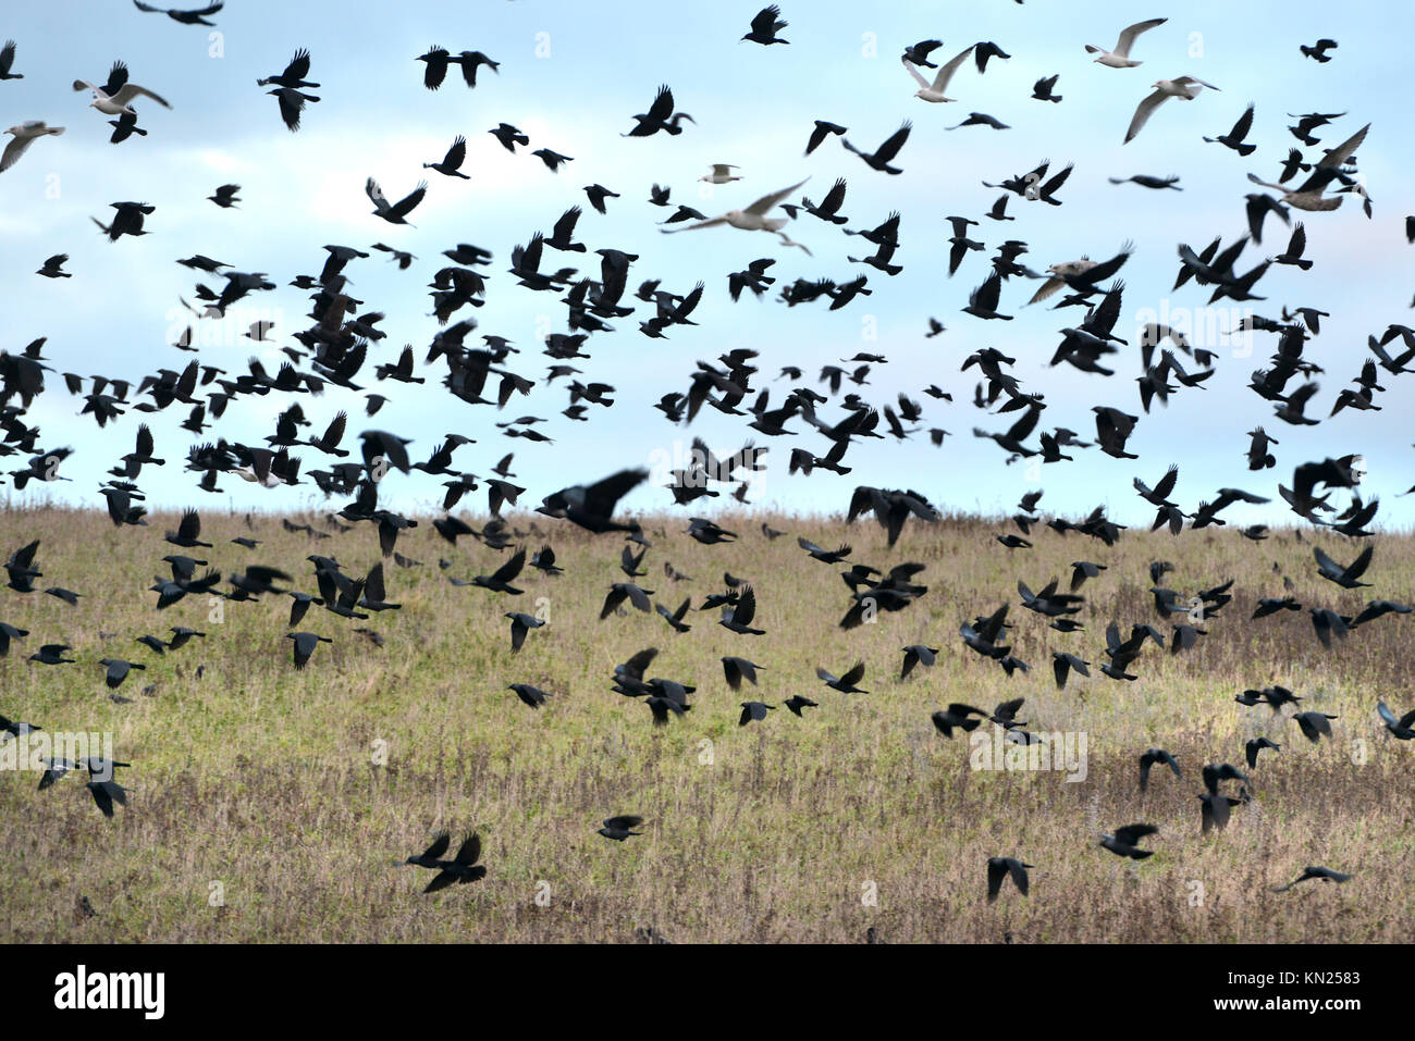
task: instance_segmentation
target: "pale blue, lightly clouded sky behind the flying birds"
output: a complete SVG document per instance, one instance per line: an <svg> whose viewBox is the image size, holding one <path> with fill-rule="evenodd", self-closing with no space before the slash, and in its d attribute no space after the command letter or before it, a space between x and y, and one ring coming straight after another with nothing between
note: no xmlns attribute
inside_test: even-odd
<svg viewBox="0 0 1415 1041"><path fill-rule="evenodd" d="M1156 406L1131 440L1139 461L1119 461L1095 451L1077 453L1074 463L1044 467L1033 481L1023 465L1003 465L1003 453L972 436L975 426L1002 430L1010 416L988 416L972 407L976 371L959 365L979 348L993 347L1017 358L1015 373L1024 389L1046 395L1043 427L1067 426L1094 434L1092 405L1111 405L1139 414L1135 378L1140 375L1133 347L1138 315L1149 310L1200 330L1230 327L1242 315L1223 301L1204 307L1208 291L1193 283L1170 293L1177 272L1176 245L1196 249L1223 235L1245 233L1244 195L1257 191L1245 174L1276 180L1276 170L1298 141L1288 133L1288 113L1346 112L1317 130L1322 144L1309 158L1361 124L1371 132L1358 151L1360 170L1375 207L1368 221L1348 199L1327 214L1293 211L1307 228L1310 272L1274 266L1259 283L1266 300L1248 306L1281 318L1283 306L1312 306L1330 313L1306 356L1323 366L1322 389L1310 412L1324 417L1336 393L1350 385L1368 358L1365 337L1390 322L1408 322L1415 293L1415 266L1404 238L1404 218L1415 212L1409 91L1404 79L1404 41L1415 21L1404 8L1385 7L1381 17L1367 8L1319 3L1269 4L1189 3L1166 10L1156 4L1060 4L1029 0L1024 6L993 0L944 10L941 4L788 3L788 47L739 44L758 3L410 3L398 8L364 3L242 3L232 0L215 16L214 30L187 27L161 16L142 14L129 3L28 3L8 6L0 37L18 44L16 71L23 81L0 83L0 126L44 119L67 126L65 136L38 141L0 175L0 253L6 286L6 322L0 347L21 349L30 339L50 338L45 354L55 369L48 390L31 410L45 447L71 444L75 455L64 474L72 484L40 487L17 496L59 495L102 504L96 494L103 472L132 450L139 421L153 424L158 454L168 464L144 470L140 484L153 506L265 506L286 509L320 501L313 485L260 491L228 478L225 495L194 489L181 460L192 437L178 429L185 409L157 416L129 412L99 431L76 413L58 372L105 373L139 379L160 366L178 369L192 356L167 347L173 328L185 324L178 296L191 300L192 273L173 263L201 252L236 270L267 272L280 289L248 298L255 311L225 322L202 322L201 361L235 373L245 369L253 345L241 338L253 317L276 321L276 345L308 324L306 294L286 286L296 274L317 274L323 246L340 243L368 249L385 242L417 256L408 272L383 255L358 260L347 273L350 293L368 308L388 314L388 338L371 352L361 380L368 390L388 393L392 403L374 420L362 416L362 396L333 390L303 402L321 427L337 410L351 413L351 436L381 427L415 438L412 454L426 458L441 436L456 431L477 440L458 450L456 464L485 475L507 451L515 451L518 482L531 505L565 484L593 479L627 465L645 465L655 453L672 454L702 436L715 450L741 446L744 420L705 414L691 427L666 423L651 406L668 390L685 390L699 359L712 361L734 348L760 352L757 388L770 388L780 402L788 382L774 382L784 365L807 371L807 385L819 390L815 373L857 351L882 354L870 383L859 389L869 400L893 402L907 392L924 403L924 427L952 431L941 448L920 433L910 441L865 441L852 446L848 477L816 472L787 477L795 444L824 454L828 443L797 420L795 437L761 438L771 453L768 470L757 475L749 499L799 511L843 511L856 484L911 487L937 505L952 509L1010 509L1024 492L1046 489L1043 508L1078 513L1109 506L1126 523L1146 523L1150 508L1132 491L1136 475L1153 484L1170 463L1180 465L1176 498L1186 509L1232 485L1269 495L1272 508L1234 508L1230 522L1283 520L1290 513L1276 496L1278 482L1290 482L1292 468L1326 455L1363 453L1370 465L1364 494L1381 496L1378 520L1408 528L1415 496L1397 498L1415 484L1411 465L1415 424L1409 414L1409 380L1381 373L1387 393L1382 412L1343 412L1316 427L1293 427L1272 416L1272 407L1247 389L1254 369L1272 352L1272 337L1257 337L1251 355L1242 345L1206 344L1218 354L1217 375L1207 388L1180 389L1169 407ZM102 11L102 17L99 17ZM1108 69L1094 65L1084 44L1109 47L1118 31L1149 17L1169 23L1140 37L1133 57L1143 65ZM1299 44L1333 37L1340 47L1324 65L1305 59ZM904 45L942 38L935 58L947 59L975 41L996 41L1012 58L993 59L979 76L972 64L954 79L954 105L928 105L913 96L916 85L900 68ZM456 71L437 92L422 85L415 58L430 44L451 51L480 50L501 62L499 75L481 69L468 91ZM307 107L303 129L289 133L276 102L255 85L279 72L297 47L313 55L310 78L321 100ZM69 89L75 78L102 81L113 59L132 68L133 81L173 103L171 110L137 105L146 139L108 143L108 117L86 107L88 95ZM1058 105L1030 99L1039 76L1060 74ZM1131 144L1122 146L1136 103L1159 78L1193 75L1221 92L1193 102L1167 102ZM624 139L631 116L644 112L659 83L669 83L678 107L696 124L678 137ZM1258 150L1244 158L1201 137L1230 129L1248 102L1257 106L1249 141ZM945 127L969 112L986 112L1009 130ZM849 139L873 147L903 119L914 132L899 157L899 177L869 170L838 141L802 156L814 119L849 127ZM548 171L528 150L507 154L487 130L499 122L519 126L531 149L550 147L573 158L559 174ZM441 158L456 134L466 134L471 181L443 178L422 164ZM999 181L1050 158L1053 171L1075 163L1058 194L1061 207L1013 197L1016 221L982 219L971 229L988 250L971 253L957 276L947 276L949 235L945 218L982 218L998 191L981 181ZM724 187L698 182L709 163L734 163L743 180ZM391 226L371 214L364 181L375 177L391 198L400 198L426 174L432 187L413 212L413 228ZM1180 175L1182 192L1153 192L1133 184L1112 185L1108 177ZM802 215L788 232L814 256L785 248L774 236L715 228L664 236L655 228L672 212L647 202L652 182L672 185L674 201L708 215L744 207L758 195L809 177L802 190L819 198L836 177L846 177L843 212L848 228L872 228L899 209L903 214L897 277L852 264L848 255L867 248L859 238ZM238 209L218 209L205 197L222 182L242 185ZM600 182L623 198L610 199L608 215L586 205L583 185ZM89 216L106 219L108 204L140 199L156 204L149 235L108 243ZM550 225L569 205L586 207L577 238L590 250L613 246L640 255L631 286L661 279L665 289L686 291L708 284L693 318L696 327L675 327L668 339L648 339L638 330L642 314L617 324L613 334L591 337L590 361L576 362L583 380L601 380L618 392L613 409L591 406L590 423L560 416L565 380L543 382L549 359L539 354L545 328L565 331L558 294L532 293L514 284L505 267L511 246ZM1286 245L1286 229L1269 218L1261 246L1249 246L1240 269L1272 256ZM1131 239L1136 252L1122 272L1125 304L1118 334L1132 347L1112 358L1109 379L1068 366L1049 368L1060 335L1078 324L1075 308L1053 313L1050 304L1023 307L1036 283L1020 279L1003 289L1002 311L1010 322L981 321L961 314L969 290L989 272L988 257L1003 239L1029 243L1023 257L1036 270L1082 255L1112 256ZM504 413L466 405L441 390L441 371L420 369L423 386L375 385L372 366L396 359L412 344L419 362L437 331L429 317L426 283L443 266L441 249L473 242L495 253L490 267L487 306L474 313L478 334L512 339L521 354L512 368L536 379L529 397L518 397ZM71 255L67 280L34 274L51 253ZM593 253L589 255L597 262ZM727 297L726 276L756 257L778 263L774 287L795 277L846 281L869 274L873 296L828 313L824 304L787 308L768 293ZM549 256L548 267L577 264L597 277L597 263L584 255ZM219 289L219 283L212 283ZM631 301L637 303L637 301ZM1054 301L1051 301L1054 303ZM467 308L458 317L473 314ZM925 339L930 315L948 331ZM1129 332L1126 331L1129 330ZM267 362L270 365L270 362ZM273 365L270 365L273 368ZM954 402L920 395L938 383ZM1295 385L1295 383L1293 383ZM389 386L392 389L389 389ZM284 402L243 397L232 403L214 431L228 440L259 443L273 433ZM531 444L501 434L494 421L521 414L549 417L541 429L555 444ZM822 416L841 416L835 405ZM1279 440L1278 468L1251 474L1244 451L1247 434L1262 424ZM314 450L300 450L304 468L325 463ZM33 488L34 485L31 485ZM6 491L10 491L6 488ZM437 479L415 474L393 478L385 496L395 506L427 508L440 499ZM481 494L471 496L484 506ZM726 499L726 495L723 496ZM338 504L335 504L338 505ZM624 504L630 511L671 505L666 491L641 488ZM703 512L696 506L689 512Z"/></svg>

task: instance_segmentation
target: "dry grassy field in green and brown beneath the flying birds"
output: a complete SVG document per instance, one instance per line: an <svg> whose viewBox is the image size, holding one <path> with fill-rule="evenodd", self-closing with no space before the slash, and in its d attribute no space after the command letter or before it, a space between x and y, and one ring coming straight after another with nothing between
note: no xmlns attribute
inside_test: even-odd
<svg viewBox="0 0 1415 1041"><path fill-rule="evenodd" d="M1375 587L1344 591L1316 574L1312 547L1344 562L1361 546L1310 532L1252 543L1237 530L1126 530L1107 547L1041 528L1034 549L1009 552L993 539L1002 520L948 518L910 520L890 550L869 519L726 515L719 522L740 540L702 546L682 533L683 515L645 518L654 545L638 581L674 608L720 591L724 570L746 577L768 634L750 636L720 628L716 611L691 611L682 635L633 610L599 621L608 584L624 580L621 536L533 513L508 520L529 549L553 543L566 574L528 567L519 597L454 587L449 576L487 574L504 556L471 537L454 549L424 519L398 545L423 564L388 566L389 600L402 608L369 621L311 608L297 628L334 642L299 672L289 597L221 603L218 617L205 597L154 611L147 587L166 574L161 557L181 552L163 542L175 519L116 530L95 512L0 513L4 556L38 537L37 584L85 594L69 607L0 588L0 621L31 631L0 659L0 713L50 731L110 731L116 758L132 762L119 781L133 789L105 819L78 775L38 792L34 772L0 774L8 942L862 942L872 928L890 943L1415 938L1415 741L1397 741L1375 714L1381 699L1397 714L1415 707L1411 618L1374 621L1332 651L1306 611L1249 621L1257 597L1285 594L1283 576L1303 605L1343 614L1371 597L1415 601L1409 536L1378 536L1365 576ZM296 519L330 529L321 515ZM766 539L761 520L788 537ZM215 543L204 554L222 574L272 564L313 591L310 553L355 576L378 560L368 525L314 539L279 518L252 525L205 511L202 522ZM842 631L845 566L811 560L797 535L849 542L848 563L925 563L928 593ZM263 545L246 550L235 536ZM440 557L453 562L446 571ZM1020 607L1016 583L1036 590L1058 576L1064 588L1073 560L1109 570L1081 590L1085 631L1060 634ZM1148 591L1152 560L1173 562L1165 584L1186 593L1235 578L1234 601L1193 651L1149 646L1136 682L1092 668L1057 690L1050 652L1098 666L1111 620L1167 635ZM669 580L665 562L691 581ZM1015 652L1032 665L1010 679L958 635L1003 603L1013 604ZM549 618L516 655L511 610ZM163 656L133 642L173 625L208 635ZM71 644L78 663L27 661L48 642ZM916 642L940 648L938 662L900 682L900 648ZM698 686L692 710L666 727L610 690L614 666L648 646L661 652L649 676ZM727 653L764 666L760 687L726 686ZM108 697L105 656L147 666L116 692L130 703ZM856 658L867 694L815 677L818 665L839 675ZM507 689L515 682L553 697L532 710ZM1290 713L1234 702L1272 683L1300 694L1302 709L1337 716L1334 740L1309 744ZM821 707L739 727L740 702L791 694ZM992 709L1017 696L1030 730L1085 735L1084 779L974 769L966 735L945 740L930 721L949 702ZM1248 771L1254 801L1227 830L1201 836L1200 768L1247 771L1244 741L1261 734L1282 751ZM1172 751L1184 775L1159 767L1142 795L1136 760L1150 747ZM620 813L642 815L644 834L596 833ZM1150 860L1099 849L1101 832L1131 822L1159 826ZM453 849L480 832L488 874L423 895L429 873L395 861L444 827ZM1007 887L986 901L990 856L1034 866L1029 897ZM1307 864L1354 877L1272 892Z"/></svg>

